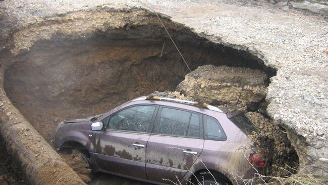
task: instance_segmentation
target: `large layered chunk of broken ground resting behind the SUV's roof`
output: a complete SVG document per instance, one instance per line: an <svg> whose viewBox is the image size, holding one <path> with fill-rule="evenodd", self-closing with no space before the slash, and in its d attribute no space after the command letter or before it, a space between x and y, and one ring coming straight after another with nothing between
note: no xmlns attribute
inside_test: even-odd
<svg viewBox="0 0 328 185"><path fill-rule="evenodd" d="M177 90L210 104L248 106L265 97L266 87L267 75L258 69L203 65L187 74Z"/></svg>

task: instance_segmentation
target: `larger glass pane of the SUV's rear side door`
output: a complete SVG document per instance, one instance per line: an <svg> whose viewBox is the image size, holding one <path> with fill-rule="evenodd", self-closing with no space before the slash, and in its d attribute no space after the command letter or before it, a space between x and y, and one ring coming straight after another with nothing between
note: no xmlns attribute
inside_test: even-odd
<svg viewBox="0 0 328 185"><path fill-rule="evenodd" d="M186 136L191 113L179 109L162 108L159 115L158 134Z"/></svg>

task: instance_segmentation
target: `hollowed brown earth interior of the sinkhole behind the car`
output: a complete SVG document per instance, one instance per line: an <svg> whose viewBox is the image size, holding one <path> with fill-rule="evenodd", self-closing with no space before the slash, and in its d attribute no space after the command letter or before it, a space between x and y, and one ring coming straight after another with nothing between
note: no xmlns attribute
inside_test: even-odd
<svg viewBox="0 0 328 185"><path fill-rule="evenodd" d="M191 70L211 64L276 74L247 51L173 28L169 33ZM61 121L104 113L155 90L174 91L189 73L165 30L151 23L98 30L88 38L57 34L13 60L5 71L7 96L50 144ZM294 153L291 160L298 162Z"/></svg>

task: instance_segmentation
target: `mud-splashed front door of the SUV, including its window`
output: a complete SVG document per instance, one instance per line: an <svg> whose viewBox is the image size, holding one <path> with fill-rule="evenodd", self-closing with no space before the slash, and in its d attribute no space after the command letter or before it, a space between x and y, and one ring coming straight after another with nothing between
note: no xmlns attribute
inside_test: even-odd
<svg viewBox="0 0 328 185"><path fill-rule="evenodd" d="M95 138L95 161L102 171L147 179L146 146L158 106L135 105L103 120Z"/></svg>

